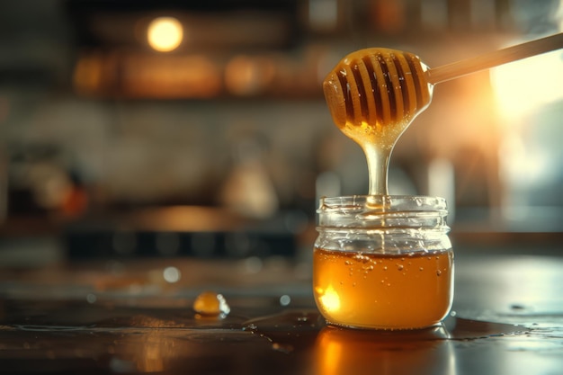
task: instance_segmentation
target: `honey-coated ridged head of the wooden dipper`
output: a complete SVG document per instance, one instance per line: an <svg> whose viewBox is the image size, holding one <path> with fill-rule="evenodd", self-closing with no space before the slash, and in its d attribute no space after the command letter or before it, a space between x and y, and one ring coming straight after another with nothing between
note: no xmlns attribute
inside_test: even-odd
<svg viewBox="0 0 563 375"><path fill-rule="evenodd" d="M425 66L411 53L361 49L340 61L323 83L335 125L362 144L395 144L432 98Z"/></svg>

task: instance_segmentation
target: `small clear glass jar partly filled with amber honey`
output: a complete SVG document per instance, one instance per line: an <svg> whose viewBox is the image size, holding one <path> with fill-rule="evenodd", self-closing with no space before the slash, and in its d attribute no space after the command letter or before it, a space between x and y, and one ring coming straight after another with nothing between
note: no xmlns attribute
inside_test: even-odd
<svg viewBox="0 0 563 375"><path fill-rule="evenodd" d="M453 299L447 212L438 197L321 198L313 292L327 323L374 329L439 324Z"/></svg>

